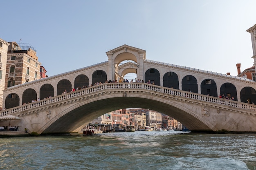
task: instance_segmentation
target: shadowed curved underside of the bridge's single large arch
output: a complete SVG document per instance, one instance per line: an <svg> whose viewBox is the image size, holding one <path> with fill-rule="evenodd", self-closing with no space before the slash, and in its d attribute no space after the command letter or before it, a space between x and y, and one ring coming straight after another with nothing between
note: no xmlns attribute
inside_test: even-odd
<svg viewBox="0 0 256 170"><path fill-rule="evenodd" d="M114 97L107 95L103 99L83 100L62 111L43 126L38 133L77 132L93 119L113 110L122 108L147 108L169 115L191 130L211 130L211 122L184 106L168 99L148 98L148 94L140 97Z"/></svg>

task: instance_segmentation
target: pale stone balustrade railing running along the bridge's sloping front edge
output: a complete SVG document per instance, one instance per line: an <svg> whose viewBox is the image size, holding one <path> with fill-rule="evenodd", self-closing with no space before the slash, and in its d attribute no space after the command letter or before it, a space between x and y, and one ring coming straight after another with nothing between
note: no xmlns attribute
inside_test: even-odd
<svg viewBox="0 0 256 170"><path fill-rule="evenodd" d="M237 101L234 101L234 100L222 99L222 98L219 98L219 97L212 97L212 96L202 95L202 94L198 94L198 93L191 93L191 92L186 92L186 91L182 91L182 90L177 90L177 89L174 89L174 88L156 86L156 85L153 85L153 84L146 84L146 83L105 83L105 84L100 84L100 85L97 85L97 86L92 86L90 88L84 88L84 89L81 89L79 91L74 91L74 92L71 92L71 93L65 93L65 94L62 94L62 95L55 96L55 97L49 97L47 99L43 99L43 100L40 100L40 101L37 101L37 102L25 104L25 105L22 105L22 106L17 106L17 107L10 108L10 109L7 109L7 110L2 110L0 112L0 116L18 113L20 111L29 110L31 108L36 108L36 107L39 107L39 106L45 106L47 104L52 104L52 103L55 103L55 102L66 100L66 99L72 99L74 97L94 93L94 92L97 92L97 91L102 91L104 89L127 89L127 90L130 91L132 88L146 89L146 90L150 90L152 92L160 92L160 93L166 93L168 95L187 97L187 98L196 99L196 100L205 101L205 102L210 102L210 103L222 104L222 105L232 106L232 107L236 107L236 108L243 108L243 109L246 109L246 110L256 110L256 105L253 105L253 104L247 104L247 103L243 103L243 102L237 102Z"/></svg>

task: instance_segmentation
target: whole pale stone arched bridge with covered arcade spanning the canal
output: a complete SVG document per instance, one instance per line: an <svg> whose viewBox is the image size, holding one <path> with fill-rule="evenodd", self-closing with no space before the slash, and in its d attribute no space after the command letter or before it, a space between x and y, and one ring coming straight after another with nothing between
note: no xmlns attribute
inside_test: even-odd
<svg viewBox="0 0 256 170"><path fill-rule="evenodd" d="M256 105L250 104L256 103L256 82L146 60L146 51L128 45L106 54L108 62L7 88L1 116L19 117L16 126L30 132L59 133L77 132L113 110L148 108L177 119L190 130L256 132ZM151 84L106 83L123 80L128 73ZM97 82L102 84L89 87ZM81 90L72 92L77 87ZM31 103L34 99L40 101Z"/></svg>

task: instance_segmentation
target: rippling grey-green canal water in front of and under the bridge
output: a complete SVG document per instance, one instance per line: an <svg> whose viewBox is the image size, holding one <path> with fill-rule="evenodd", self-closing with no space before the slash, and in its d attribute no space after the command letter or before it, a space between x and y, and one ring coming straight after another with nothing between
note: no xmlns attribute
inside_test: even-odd
<svg viewBox="0 0 256 170"><path fill-rule="evenodd" d="M115 132L0 138L2 170L256 170L256 134Z"/></svg>

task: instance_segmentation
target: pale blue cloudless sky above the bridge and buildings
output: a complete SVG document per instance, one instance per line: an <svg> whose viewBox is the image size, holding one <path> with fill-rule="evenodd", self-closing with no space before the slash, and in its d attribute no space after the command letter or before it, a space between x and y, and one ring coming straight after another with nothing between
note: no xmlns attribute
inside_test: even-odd
<svg viewBox="0 0 256 170"><path fill-rule="evenodd" d="M47 75L106 62L127 44L146 59L237 75L253 66L256 0L2 0L0 38L29 43ZM21 39L21 40L20 40Z"/></svg>

